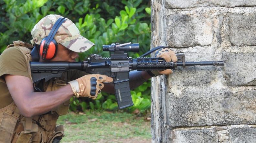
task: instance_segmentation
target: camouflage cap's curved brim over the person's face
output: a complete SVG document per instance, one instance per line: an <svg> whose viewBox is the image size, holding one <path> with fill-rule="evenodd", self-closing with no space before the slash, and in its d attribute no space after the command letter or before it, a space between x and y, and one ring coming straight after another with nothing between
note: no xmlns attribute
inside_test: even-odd
<svg viewBox="0 0 256 143"><path fill-rule="evenodd" d="M78 52L78 53L85 52L88 49L90 49L92 46L95 45L90 40L84 38L81 35L76 39L66 41L66 42L61 42L60 44L65 46L66 48L68 48L74 52Z"/></svg>

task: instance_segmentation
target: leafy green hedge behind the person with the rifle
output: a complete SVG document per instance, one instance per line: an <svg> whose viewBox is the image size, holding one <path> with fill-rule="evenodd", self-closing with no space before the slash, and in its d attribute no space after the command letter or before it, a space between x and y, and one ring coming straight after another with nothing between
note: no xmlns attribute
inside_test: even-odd
<svg viewBox="0 0 256 143"><path fill-rule="evenodd" d="M90 54L109 57L102 52L102 45L140 43L140 52L129 53L136 58L150 49L150 1L149 0L0 0L0 53L13 40L29 42L34 25L48 14L59 14L72 20L80 34L96 45L80 53L79 61ZM132 91L134 106L127 109L144 112L150 108L150 82ZM76 106L78 104L79 106ZM97 100L71 99L71 109L115 110L114 95L100 94Z"/></svg>

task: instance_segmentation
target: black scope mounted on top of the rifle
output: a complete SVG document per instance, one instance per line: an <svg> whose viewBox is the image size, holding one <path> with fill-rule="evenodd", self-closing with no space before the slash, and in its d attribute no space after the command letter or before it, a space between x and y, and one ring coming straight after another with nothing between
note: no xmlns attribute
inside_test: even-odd
<svg viewBox="0 0 256 143"><path fill-rule="evenodd" d="M139 44L131 42L119 44L119 43L112 43L111 45L103 45L103 51L127 51L127 52L139 52Z"/></svg>

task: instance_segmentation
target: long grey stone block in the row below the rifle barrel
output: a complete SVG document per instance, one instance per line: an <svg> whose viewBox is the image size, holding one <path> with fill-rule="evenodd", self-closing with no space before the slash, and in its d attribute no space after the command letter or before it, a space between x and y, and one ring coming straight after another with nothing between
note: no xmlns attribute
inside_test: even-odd
<svg viewBox="0 0 256 143"><path fill-rule="evenodd" d="M171 88L173 93L165 97L171 127L256 123L256 90L231 93L214 85Z"/></svg>

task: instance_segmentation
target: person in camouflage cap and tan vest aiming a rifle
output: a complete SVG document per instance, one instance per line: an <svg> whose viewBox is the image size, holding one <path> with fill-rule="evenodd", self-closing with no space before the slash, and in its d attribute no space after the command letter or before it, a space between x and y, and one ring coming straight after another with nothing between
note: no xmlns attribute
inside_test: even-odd
<svg viewBox="0 0 256 143"><path fill-rule="evenodd" d="M33 84L29 66L32 58L37 61L74 62L78 53L85 52L94 44L80 35L72 21L60 15L44 17L31 34L34 46L13 41L0 56L1 143L57 143L64 137L64 130L62 125L56 127L56 121L68 112L72 96L95 99L101 90L114 93L112 84L103 84L112 82L111 77L88 75L79 70L65 72L58 79ZM170 49L163 49L158 57L177 61ZM170 73L171 69L131 71L130 87L138 87L152 76Z"/></svg>

